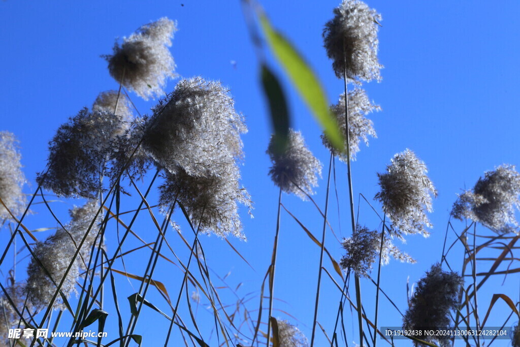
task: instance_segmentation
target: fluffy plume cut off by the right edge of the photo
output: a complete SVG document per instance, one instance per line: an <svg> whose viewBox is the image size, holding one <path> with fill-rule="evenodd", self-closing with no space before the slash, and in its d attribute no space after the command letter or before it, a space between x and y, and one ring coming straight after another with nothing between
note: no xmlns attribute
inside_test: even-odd
<svg viewBox="0 0 520 347"><path fill-rule="evenodd" d="M459 195L451 215L480 222L498 234L519 234L515 210L520 208L520 174L503 164L480 177L472 190Z"/></svg>

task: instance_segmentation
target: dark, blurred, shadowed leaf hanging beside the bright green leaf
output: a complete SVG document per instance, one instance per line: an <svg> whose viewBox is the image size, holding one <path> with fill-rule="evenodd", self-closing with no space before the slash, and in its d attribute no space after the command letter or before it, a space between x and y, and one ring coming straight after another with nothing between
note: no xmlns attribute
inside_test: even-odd
<svg viewBox="0 0 520 347"><path fill-rule="evenodd" d="M283 153L289 141L290 119L287 101L278 78L265 64L262 64L261 75L264 93L269 102L271 124L275 131L273 149L277 153Z"/></svg>

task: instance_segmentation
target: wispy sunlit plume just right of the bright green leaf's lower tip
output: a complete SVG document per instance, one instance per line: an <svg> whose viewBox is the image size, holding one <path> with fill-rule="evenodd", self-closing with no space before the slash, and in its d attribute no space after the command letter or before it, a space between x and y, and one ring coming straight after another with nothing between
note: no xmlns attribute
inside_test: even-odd
<svg viewBox="0 0 520 347"><path fill-rule="evenodd" d="M342 134L345 134L345 93L340 96L336 105L331 106L331 112L335 115L337 124ZM350 159L356 160L356 153L359 152L359 143L361 140L368 146L368 136L378 137L375 134L373 123L365 116L373 111L381 111L381 107L372 104L367 93L361 88L355 88L348 92L348 138ZM334 146L329 142L325 134L321 135L323 145L329 150L334 151ZM345 148L347 141L345 138ZM340 153L340 160L347 161L346 151Z"/></svg>

